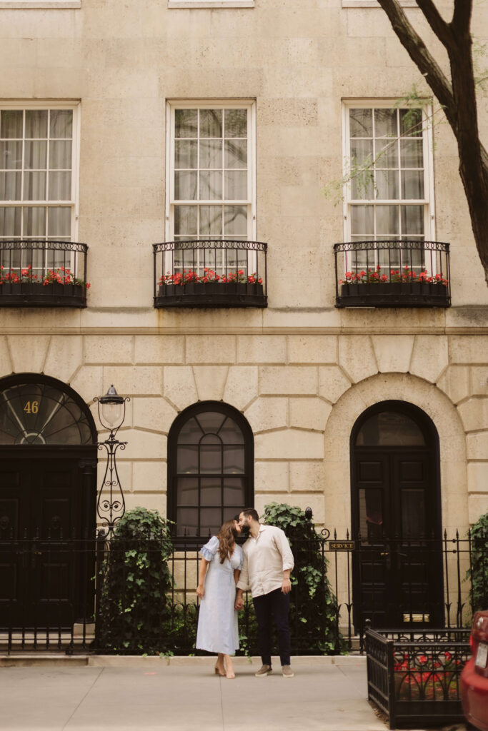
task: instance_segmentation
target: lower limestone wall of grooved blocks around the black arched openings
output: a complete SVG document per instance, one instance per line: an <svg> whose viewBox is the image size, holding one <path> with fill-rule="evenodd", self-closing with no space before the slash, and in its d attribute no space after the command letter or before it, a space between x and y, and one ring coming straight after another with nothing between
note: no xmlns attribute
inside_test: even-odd
<svg viewBox="0 0 488 731"><path fill-rule="evenodd" d="M131 398L119 455L128 507L165 513L173 420L198 400L223 400L255 436L258 510L309 505L345 534L351 429L367 407L398 399L438 430L443 526L464 529L488 509L487 335L9 335L0 352L0 376L54 376L89 404L111 383Z"/></svg>

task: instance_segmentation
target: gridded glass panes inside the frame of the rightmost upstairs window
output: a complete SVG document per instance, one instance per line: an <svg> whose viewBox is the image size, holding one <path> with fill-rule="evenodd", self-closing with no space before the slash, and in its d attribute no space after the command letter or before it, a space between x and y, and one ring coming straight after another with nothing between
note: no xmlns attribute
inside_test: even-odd
<svg viewBox="0 0 488 731"><path fill-rule="evenodd" d="M427 208L424 132L419 109L349 110L349 151L353 165L369 167L350 184L351 241L423 241ZM424 268L422 251L355 251L347 270L408 266Z"/></svg>

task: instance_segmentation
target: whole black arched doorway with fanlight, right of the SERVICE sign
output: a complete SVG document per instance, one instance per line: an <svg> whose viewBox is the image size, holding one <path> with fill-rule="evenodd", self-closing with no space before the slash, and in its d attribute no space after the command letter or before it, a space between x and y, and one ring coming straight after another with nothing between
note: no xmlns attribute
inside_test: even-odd
<svg viewBox="0 0 488 731"><path fill-rule="evenodd" d="M383 401L350 438L356 626L443 626L438 433L405 401Z"/></svg>

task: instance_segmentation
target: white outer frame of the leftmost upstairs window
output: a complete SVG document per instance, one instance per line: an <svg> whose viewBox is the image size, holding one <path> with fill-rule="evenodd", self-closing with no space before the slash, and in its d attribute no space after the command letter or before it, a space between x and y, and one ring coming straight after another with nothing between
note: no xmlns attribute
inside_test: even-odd
<svg viewBox="0 0 488 731"><path fill-rule="evenodd" d="M81 104L79 99L66 102L51 102L48 99L45 101L36 99L33 101L26 101L26 99L18 99L17 101L0 102L0 110L72 110L73 113L73 126L72 126L72 173L71 173L71 199L69 201L50 201L38 200L38 201L25 201L25 200L8 200L1 201L0 205L5 206L18 206L22 208L25 205L29 207L39 206L48 207L48 205L61 205L66 208L71 208L71 241L76 242L78 240L78 217L79 217L79 192L80 192L80 121L81 121ZM13 237L12 237L13 238ZM49 237L41 237L48 239Z"/></svg>

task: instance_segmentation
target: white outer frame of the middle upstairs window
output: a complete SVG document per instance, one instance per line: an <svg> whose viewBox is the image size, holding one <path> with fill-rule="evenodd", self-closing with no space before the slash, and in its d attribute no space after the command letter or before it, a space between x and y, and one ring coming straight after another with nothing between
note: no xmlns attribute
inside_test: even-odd
<svg viewBox="0 0 488 731"><path fill-rule="evenodd" d="M247 205L247 240L256 240L256 102L254 99L192 99L191 101L168 100L166 103L166 213L165 240L174 239L174 158L175 158L175 110L176 109L247 109L247 201L233 201L234 205ZM215 201L212 201L215 202ZM191 205L192 202L190 202ZM195 202L195 205L198 203Z"/></svg>

